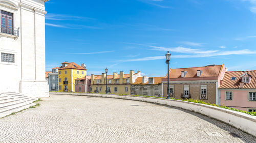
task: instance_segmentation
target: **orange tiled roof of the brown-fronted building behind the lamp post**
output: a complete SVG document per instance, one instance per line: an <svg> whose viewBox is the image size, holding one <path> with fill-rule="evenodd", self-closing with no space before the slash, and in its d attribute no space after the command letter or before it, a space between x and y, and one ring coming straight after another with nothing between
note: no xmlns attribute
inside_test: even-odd
<svg viewBox="0 0 256 143"><path fill-rule="evenodd" d="M170 69L169 71L169 78L193 78L197 77L197 70L201 70L202 74L200 77L197 78L203 78L203 77L218 77L221 68L223 65L217 65L217 66L205 66L205 67L193 67L193 68L180 68L180 69ZM181 77L181 71L186 71L185 77ZM165 76L167 78L167 75Z"/></svg>

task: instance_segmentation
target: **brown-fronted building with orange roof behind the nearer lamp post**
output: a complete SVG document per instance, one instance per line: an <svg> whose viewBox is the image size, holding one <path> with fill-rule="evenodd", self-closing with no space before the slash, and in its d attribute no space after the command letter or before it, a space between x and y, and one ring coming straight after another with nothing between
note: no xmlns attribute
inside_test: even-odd
<svg viewBox="0 0 256 143"><path fill-rule="evenodd" d="M197 99L220 105L218 88L226 72L223 65L169 70L170 97ZM167 97L167 75L162 79L162 96Z"/></svg>

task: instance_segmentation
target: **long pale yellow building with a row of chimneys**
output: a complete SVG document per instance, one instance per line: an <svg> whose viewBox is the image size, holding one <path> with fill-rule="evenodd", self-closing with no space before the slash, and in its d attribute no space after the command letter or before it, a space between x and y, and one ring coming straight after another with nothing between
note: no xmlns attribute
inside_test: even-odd
<svg viewBox="0 0 256 143"><path fill-rule="evenodd" d="M122 71L120 74L113 73L108 75L108 93L111 94L131 94L131 84L136 81L138 77L141 77L141 72L130 71L130 74L124 74ZM94 93L106 93L106 74L91 76L91 92Z"/></svg>

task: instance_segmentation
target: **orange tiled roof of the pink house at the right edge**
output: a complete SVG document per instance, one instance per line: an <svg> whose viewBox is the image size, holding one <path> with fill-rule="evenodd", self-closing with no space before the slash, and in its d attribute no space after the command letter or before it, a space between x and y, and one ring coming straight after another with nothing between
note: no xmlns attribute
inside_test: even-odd
<svg viewBox="0 0 256 143"><path fill-rule="evenodd" d="M240 82L242 81L242 77L240 76L244 73L248 73L252 77L250 83L244 83L243 89L256 89L256 70L226 72L219 89L241 89ZM231 80L232 77L236 77L236 80Z"/></svg>

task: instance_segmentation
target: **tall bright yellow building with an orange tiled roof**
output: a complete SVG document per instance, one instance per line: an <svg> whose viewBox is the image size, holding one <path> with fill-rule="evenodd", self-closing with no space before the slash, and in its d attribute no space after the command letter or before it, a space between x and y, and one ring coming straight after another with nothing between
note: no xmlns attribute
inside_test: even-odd
<svg viewBox="0 0 256 143"><path fill-rule="evenodd" d="M76 63L61 63L59 67L59 91L75 92L75 79L82 78L87 75L87 69L84 64L81 66Z"/></svg>

